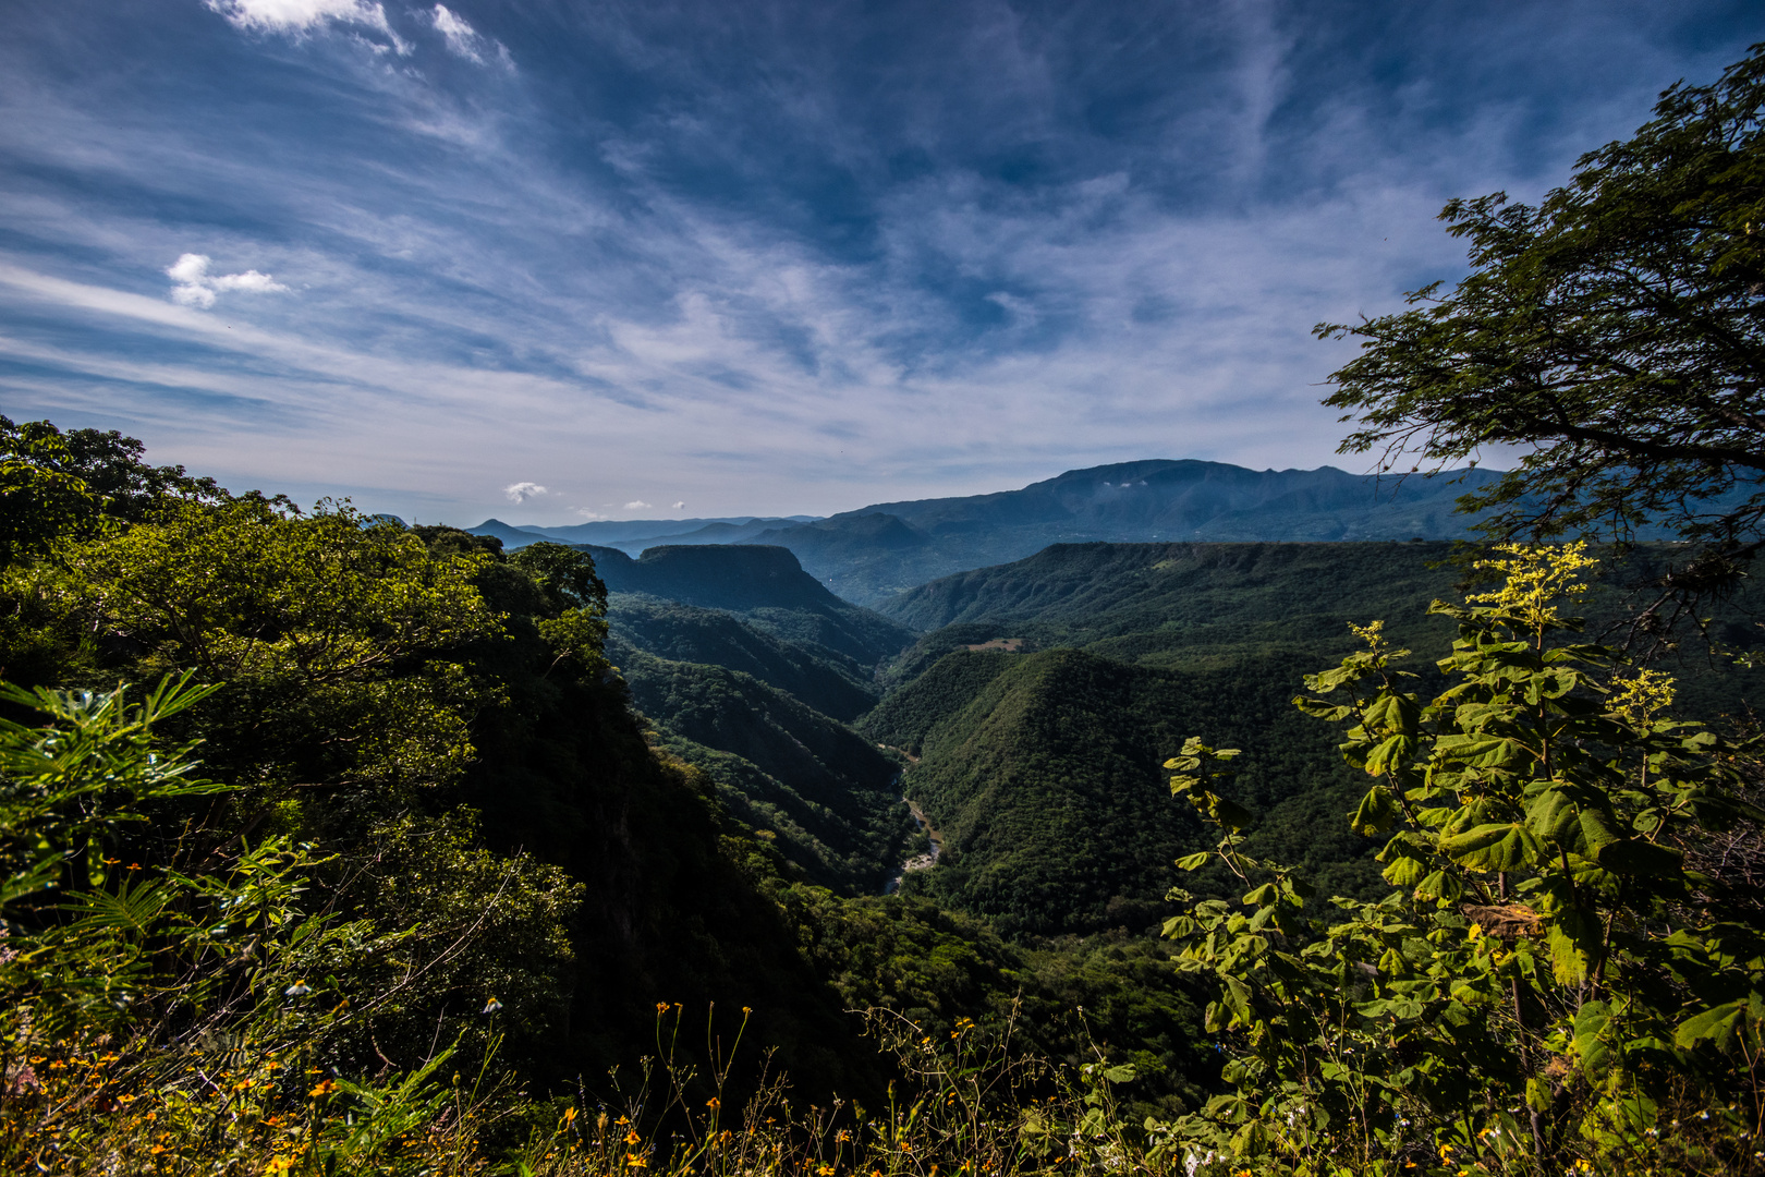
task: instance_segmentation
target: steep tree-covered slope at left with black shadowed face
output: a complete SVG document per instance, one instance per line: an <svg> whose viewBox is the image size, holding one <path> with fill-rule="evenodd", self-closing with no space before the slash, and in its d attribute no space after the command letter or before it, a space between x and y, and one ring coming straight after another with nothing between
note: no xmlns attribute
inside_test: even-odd
<svg viewBox="0 0 1765 1177"><path fill-rule="evenodd" d="M334 1039L339 1062L417 1068L461 1034L477 1061L496 995L505 1062L561 1082L639 1050L665 981L695 1001L784 995L768 1032L812 1048L805 1082L833 1082L838 1009L741 872L710 782L646 745L586 563L533 572L346 505L169 496L0 570L0 665L55 686L226 679L164 736L205 741L235 789L154 812L129 861L318 842L335 859L316 903L372 935L420 925L406 949L339 965L385 995Z"/></svg>

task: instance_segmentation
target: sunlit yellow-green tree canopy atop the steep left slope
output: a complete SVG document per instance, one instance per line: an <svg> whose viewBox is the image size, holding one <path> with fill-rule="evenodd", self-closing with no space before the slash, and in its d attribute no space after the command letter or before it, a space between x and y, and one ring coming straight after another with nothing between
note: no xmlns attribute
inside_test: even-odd
<svg viewBox="0 0 1765 1177"><path fill-rule="evenodd" d="M387 813L455 780L462 709L484 697L457 651L499 628L482 558L434 558L394 522L265 499L169 499L145 522L16 565L18 614L65 651L56 678L191 667L228 681L192 720L210 761L282 799ZM455 656L448 656L454 653Z"/></svg>

